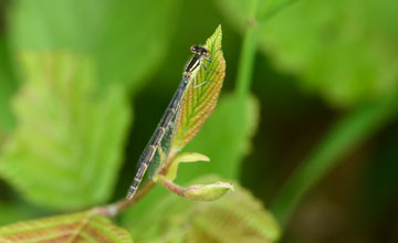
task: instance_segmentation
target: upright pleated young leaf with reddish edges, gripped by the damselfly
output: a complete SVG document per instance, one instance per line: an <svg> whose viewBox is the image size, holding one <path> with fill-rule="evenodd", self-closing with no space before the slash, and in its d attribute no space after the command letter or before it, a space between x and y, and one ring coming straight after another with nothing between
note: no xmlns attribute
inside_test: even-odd
<svg viewBox="0 0 398 243"><path fill-rule="evenodd" d="M203 85L196 88L191 85L184 96L181 116L172 145L176 150L182 149L197 135L217 105L226 77L226 60L221 50L221 39L222 31L219 25L206 41L205 47L212 53L212 62L206 62L208 71L201 66L196 75L197 84L203 83Z"/></svg>

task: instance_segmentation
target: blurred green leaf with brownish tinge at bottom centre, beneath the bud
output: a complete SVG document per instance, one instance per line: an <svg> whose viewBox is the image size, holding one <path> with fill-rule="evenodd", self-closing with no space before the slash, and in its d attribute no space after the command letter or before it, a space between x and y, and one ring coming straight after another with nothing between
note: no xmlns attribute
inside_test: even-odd
<svg viewBox="0 0 398 243"><path fill-rule="evenodd" d="M196 182L213 181L214 178ZM272 215L247 190L237 187L214 202L193 202L169 194L139 224L137 242L273 242L280 230Z"/></svg>

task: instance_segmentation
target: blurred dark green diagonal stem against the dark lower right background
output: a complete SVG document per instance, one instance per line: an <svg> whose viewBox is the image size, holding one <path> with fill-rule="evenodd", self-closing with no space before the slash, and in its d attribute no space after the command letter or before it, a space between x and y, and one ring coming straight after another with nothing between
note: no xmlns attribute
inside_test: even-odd
<svg viewBox="0 0 398 243"><path fill-rule="evenodd" d="M380 101L343 117L323 142L295 170L276 197L271 211L285 226L301 199L333 168L342 157L391 120L398 112L398 95Z"/></svg>

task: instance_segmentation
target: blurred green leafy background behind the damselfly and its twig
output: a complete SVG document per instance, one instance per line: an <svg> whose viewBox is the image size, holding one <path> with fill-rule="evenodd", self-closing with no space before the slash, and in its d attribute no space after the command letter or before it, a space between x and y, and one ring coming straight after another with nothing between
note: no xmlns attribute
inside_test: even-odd
<svg viewBox="0 0 398 243"><path fill-rule="evenodd" d="M124 197L189 46L221 24L221 98L186 149L211 165L184 166L179 182L240 181L282 222L283 242L397 242L398 2L254 1L243 115L234 92L252 2L1 1L0 224Z"/></svg>

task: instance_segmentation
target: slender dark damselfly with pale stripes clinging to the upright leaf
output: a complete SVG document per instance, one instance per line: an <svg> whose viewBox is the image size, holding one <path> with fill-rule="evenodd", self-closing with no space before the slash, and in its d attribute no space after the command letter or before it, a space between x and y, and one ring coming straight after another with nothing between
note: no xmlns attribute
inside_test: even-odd
<svg viewBox="0 0 398 243"><path fill-rule="evenodd" d="M127 191L127 197L126 197L127 199L133 199L135 192L137 191L137 188L138 188L140 181L143 180L144 175L145 175L149 163L153 161L154 155L156 154L157 149L159 148L159 145L166 134L166 130L168 130L168 128L172 124L175 116L178 114L181 101L182 101L184 95L186 94L189 85L193 81L193 88L197 88L200 85L206 83L206 81L205 81L201 84L197 84L196 83L196 74L198 73L200 66L203 66L203 68L206 71L208 71L208 68L203 64L203 60L206 60L210 63L212 62L212 60L209 59L210 51L200 45L192 45L190 47L190 51L193 53L193 56L188 62L188 64L184 71L182 80L181 80L177 91L172 95L172 98L171 98L169 105L167 106L164 115L161 116L161 119L160 119L157 128L155 129L155 133L150 137L148 145L145 147L143 154L140 155L140 157L138 159L139 168L138 168L137 173L132 182L132 186L129 187L129 189Z"/></svg>

